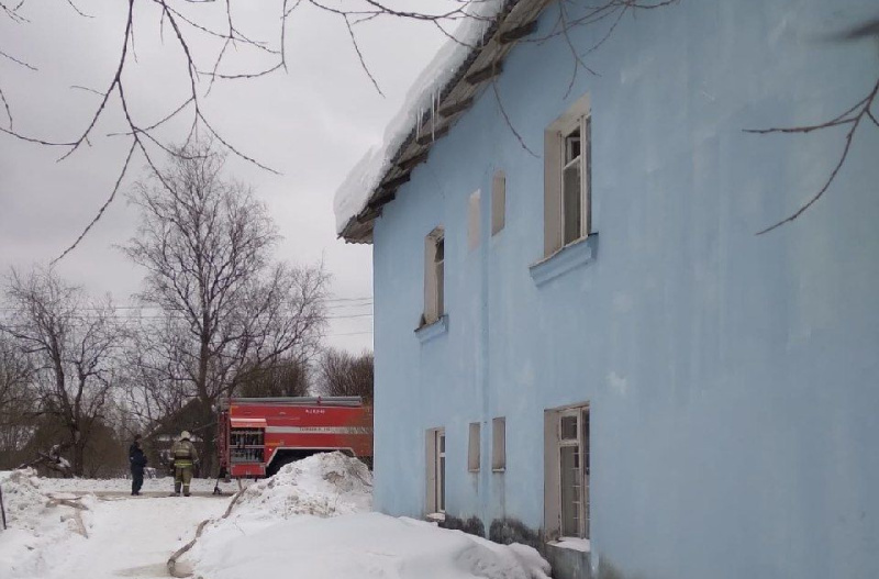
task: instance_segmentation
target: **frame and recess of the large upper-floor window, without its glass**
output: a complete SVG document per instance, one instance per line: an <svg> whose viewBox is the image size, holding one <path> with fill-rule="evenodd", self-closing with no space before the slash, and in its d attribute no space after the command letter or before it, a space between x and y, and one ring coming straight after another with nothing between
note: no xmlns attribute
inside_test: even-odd
<svg viewBox="0 0 879 579"><path fill-rule="evenodd" d="M550 256L592 233L592 145L591 104L585 94L544 132L544 255ZM570 135L579 131L580 154L568 158ZM565 169L578 163L579 231L566 238Z"/></svg>

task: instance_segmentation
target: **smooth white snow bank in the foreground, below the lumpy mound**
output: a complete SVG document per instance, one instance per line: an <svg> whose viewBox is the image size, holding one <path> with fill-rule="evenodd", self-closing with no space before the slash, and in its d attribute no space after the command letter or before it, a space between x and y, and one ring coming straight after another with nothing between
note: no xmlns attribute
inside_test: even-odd
<svg viewBox="0 0 879 579"><path fill-rule="evenodd" d="M299 516L204 553L196 576L309 579L545 579L549 566L531 547L503 546L431 523L360 513Z"/></svg>

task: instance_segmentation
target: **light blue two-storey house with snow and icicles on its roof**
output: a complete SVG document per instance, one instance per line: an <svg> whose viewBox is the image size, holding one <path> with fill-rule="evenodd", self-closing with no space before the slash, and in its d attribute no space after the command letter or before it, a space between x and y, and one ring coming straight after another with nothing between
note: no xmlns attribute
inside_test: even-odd
<svg viewBox="0 0 879 579"><path fill-rule="evenodd" d="M743 131L863 107L876 40L839 33L879 5L574 25L599 4L471 23L337 194L374 248L376 506L558 578L879 577L879 125L765 235L853 123Z"/></svg>

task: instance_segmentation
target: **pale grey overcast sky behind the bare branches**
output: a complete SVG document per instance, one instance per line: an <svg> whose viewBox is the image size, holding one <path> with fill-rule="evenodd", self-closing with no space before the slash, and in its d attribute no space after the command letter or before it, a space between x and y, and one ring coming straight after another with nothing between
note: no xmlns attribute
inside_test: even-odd
<svg viewBox="0 0 879 579"><path fill-rule="evenodd" d="M353 0L346 0L351 4ZM447 7L455 0L418 0L419 10ZM136 12L135 54L125 71L133 114L143 124L170 113L186 98L187 76L181 51L166 25L160 37L159 13L149 2ZM403 5L407 2L399 2ZM30 22L14 24L0 16L0 52L26 60L21 67L0 55L0 89L12 110L13 127L38 138L70 141L90 120L100 98L71 87L105 90L119 62L124 31L124 2L77 0L94 18L81 18L65 2L26 3ZM200 22L222 25L211 7L187 5ZM411 9L412 2L408 2ZM257 40L277 41L281 2L233 2L237 26ZM203 12L201 12L203 10ZM429 24L385 19L357 27L360 47L385 97L360 68L344 23L303 8L287 27L288 71L213 86L205 111L223 138L280 176L230 159L230 175L252 185L275 219L283 242L277 257L292 263L321 260L333 276L327 343L354 352L371 348L371 247L336 240L333 196L348 169L381 141L385 125L400 108L407 90L445 37ZM187 31L191 33L192 31ZM192 35L193 52L209 57L218 45ZM270 65L270 57L240 49L231 54L227 73ZM208 82L202 83L202 93ZM120 124L118 100L84 147L56 163L63 153L0 134L0 269L30 268L57 257L80 234L103 203L119 176L127 151L122 137L108 133ZM0 123L8 120L0 112ZM164 133L182 140L182 124ZM124 193L145 162L136 157ZM136 212L124 194L107 211L85 241L58 264L68 280L94 294L111 293L118 304L133 303L142 274L114 245L133 234Z"/></svg>

